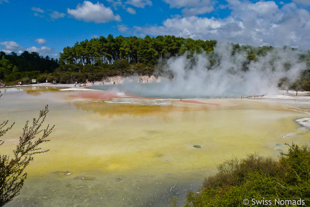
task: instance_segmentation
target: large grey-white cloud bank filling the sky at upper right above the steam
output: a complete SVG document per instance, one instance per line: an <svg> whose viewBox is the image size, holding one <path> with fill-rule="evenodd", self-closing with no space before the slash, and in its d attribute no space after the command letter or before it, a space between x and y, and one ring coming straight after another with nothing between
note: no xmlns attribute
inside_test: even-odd
<svg viewBox="0 0 310 207"><path fill-rule="evenodd" d="M168 1L174 7L190 1ZM193 1L194 2L194 1ZM227 0L230 16L223 19L197 16L171 17L162 25L134 27L135 32L149 35L175 35L194 39L216 39L255 46L284 45L299 49L310 48L310 13L295 3L279 8L273 1ZM186 4L187 3L187 4Z"/></svg>

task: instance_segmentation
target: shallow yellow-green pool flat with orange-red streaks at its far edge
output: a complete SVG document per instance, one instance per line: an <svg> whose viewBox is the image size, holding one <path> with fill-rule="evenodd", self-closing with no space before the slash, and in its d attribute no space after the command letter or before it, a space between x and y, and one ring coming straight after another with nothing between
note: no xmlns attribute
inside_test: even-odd
<svg viewBox="0 0 310 207"><path fill-rule="evenodd" d="M12 155L26 120L46 104L55 124L20 195L5 206L182 205L216 165L248 153L277 158L310 132L308 114L241 99L151 99L98 91L0 89L1 119L15 122L1 154ZM106 95L104 95L106 94Z"/></svg>

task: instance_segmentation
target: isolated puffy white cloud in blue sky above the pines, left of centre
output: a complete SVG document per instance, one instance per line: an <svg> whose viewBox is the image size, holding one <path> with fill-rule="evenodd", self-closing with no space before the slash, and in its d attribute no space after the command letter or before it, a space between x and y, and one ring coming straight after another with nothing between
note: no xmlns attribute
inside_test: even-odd
<svg viewBox="0 0 310 207"><path fill-rule="evenodd" d="M83 4L78 4L75 9L67 9L68 14L74 16L77 20L94 21L95 23L105 23L108 21L121 21L121 17L114 15L109 7L105 7L102 3L93 4L89 1L84 1Z"/></svg>

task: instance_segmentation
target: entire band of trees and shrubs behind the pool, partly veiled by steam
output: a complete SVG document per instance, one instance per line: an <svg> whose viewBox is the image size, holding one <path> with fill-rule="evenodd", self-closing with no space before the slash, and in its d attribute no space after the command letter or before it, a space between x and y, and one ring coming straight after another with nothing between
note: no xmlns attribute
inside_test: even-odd
<svg viewBox="0 0 310 207"><path fill-rule="evenodd" d="M39 56L37 52L24 51L19 56L15 52L5 54L0 52L0 83L14 85L18 81L31 83L56 81L57 83L74 83L99 81L102 78L122 75L161 75L165 61L171 57L186 54L194 61L194 54L208 53L210 66L213 70L219 64L218 54L214 52L216 40L193 40L191 38L171 35L138 38L108 35L75 43L72 47L64 47L59 60L48 56ZM272 46L253 47L230 43L232 56L246 54L246 60L241 64L242 70L248 70L252 61L258 61L275 48ZM294 48L286 48L296 50ZM310 91L310 51L299 56L298 61L306 62L306 67L300 78L290 83L292 90ZM270 64L272 65L272 64ZM283 67L289 69L287 62ZM288 85L287 79L279 81L279 87Z"/></svg>

